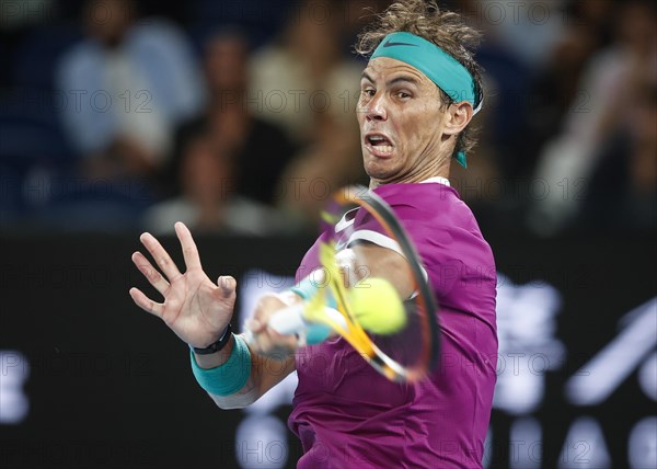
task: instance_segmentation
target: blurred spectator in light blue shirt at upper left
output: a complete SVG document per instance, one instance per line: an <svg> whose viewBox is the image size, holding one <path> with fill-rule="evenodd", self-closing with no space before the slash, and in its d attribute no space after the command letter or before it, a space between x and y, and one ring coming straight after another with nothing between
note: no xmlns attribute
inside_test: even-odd
<svg viewBox="0 0 657 469"><path fill-rule="evenodd" d="M173 126L203 103L192 48L170 23L138 22L131 0L88 1L83 22L88 37L57 73L71 141L88 175L150 175L170 152Z"/></svg>

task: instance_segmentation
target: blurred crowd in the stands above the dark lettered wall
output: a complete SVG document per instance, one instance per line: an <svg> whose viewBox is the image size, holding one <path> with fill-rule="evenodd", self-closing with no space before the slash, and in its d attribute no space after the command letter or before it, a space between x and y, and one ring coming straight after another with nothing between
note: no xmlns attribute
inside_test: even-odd
<svg viewBox="0 0 657 469"><path fill-rule="evenodd" d="M442 3L485 37L481 141L452 173L483 227L654 229L652 2ZM2 0L2 230L314 230L366 181L351 46L387 4Z"/></svg>

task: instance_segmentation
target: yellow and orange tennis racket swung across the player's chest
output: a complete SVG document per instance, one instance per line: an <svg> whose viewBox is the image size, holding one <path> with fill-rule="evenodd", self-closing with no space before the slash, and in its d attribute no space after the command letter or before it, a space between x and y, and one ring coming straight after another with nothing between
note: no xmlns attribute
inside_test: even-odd
<svg viewBox="0 0 657 469"><path fill-rule="evenodd" d="M381 252L373 245L396 252L385 251L395 256L394 272L369 270L378 261L372 252ZM365 187L336 192L322 213L319 258L314 294L272 316L272 329L303 338L327 327L394 381L417 381L435 369L436 299L410 237L380 196Z"/></svg>

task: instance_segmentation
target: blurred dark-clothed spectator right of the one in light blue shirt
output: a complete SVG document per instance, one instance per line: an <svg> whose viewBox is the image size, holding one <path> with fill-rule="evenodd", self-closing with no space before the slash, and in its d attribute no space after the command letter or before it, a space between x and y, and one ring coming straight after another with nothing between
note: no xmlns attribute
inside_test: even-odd
<svg viewBox="0 0 657 469"><path fill-rule="evenodd" d="M176 131L173 159L165 174L172 187L176 185L183 148L195 136L207 134L217 147L234 155L237 193L273 203L276 182L297 150L281 128L250 112L247 59L246 38L237 30L226 28L208 41L205 71L210 95L207 107Z"/></svg>

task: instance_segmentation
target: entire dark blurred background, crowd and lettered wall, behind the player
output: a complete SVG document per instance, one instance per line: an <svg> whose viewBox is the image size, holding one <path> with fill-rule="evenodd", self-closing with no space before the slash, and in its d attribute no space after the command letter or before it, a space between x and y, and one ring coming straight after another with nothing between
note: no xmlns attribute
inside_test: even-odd
<svg viewBox="0 0 657 469"><path fill-rule="evenodd" d="M288 282L367 183L353 44L389 3L0 0L1 467L293 466L293 382L214 408L129 255L183 220L244 297ZM500 271L486 466L655 467L657 10L439 3L484 34L450 179Z"/></svg>

